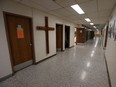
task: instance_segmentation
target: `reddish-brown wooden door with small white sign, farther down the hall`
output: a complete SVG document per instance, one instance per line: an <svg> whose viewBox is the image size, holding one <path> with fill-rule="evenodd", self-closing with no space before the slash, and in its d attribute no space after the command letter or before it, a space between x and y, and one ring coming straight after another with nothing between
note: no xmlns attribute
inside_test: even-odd
<svg viewBox="0 0 116 87"><path fill-rule="evenodd" d="M77 28L76 31L76 43L84 43L85 42L85 29Z"/></svg>

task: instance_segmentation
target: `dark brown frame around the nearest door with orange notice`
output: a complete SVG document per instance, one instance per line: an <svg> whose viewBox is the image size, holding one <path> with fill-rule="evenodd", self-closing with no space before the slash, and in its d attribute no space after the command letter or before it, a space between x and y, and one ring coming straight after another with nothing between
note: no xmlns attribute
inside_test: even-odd
<svg viewBox="0 0 116 87"><path fill-rule="evenodd" d="M23 15L19 15L19 14L14 14L14 13L9 13L9 12L5 12L3 11L3 16L4 16L4 25L5 25L5 30L6 30L6 37L7 37L7 43L8 43L8 50L9 50L9 55L10 55L10 61L11 61L11 67L12 67L12 72L13 74L16 72L14 71L14 65L13 65L13 56L12 56L12 52L11 52L11 43L10 43L10 38L9 38L9 30L8 30L8 23L7 23L7 16L11 15L11 16L15 16L15 17L22 17L22 18L27 18L30 21L30 35L31 35L31 40L32 40L32 61L33 64L35 64L35 48L34 48L34 34L33 34L33 21L31 17L28 16L23 16ZM26 67L25 67L26 68Z"/></svg>

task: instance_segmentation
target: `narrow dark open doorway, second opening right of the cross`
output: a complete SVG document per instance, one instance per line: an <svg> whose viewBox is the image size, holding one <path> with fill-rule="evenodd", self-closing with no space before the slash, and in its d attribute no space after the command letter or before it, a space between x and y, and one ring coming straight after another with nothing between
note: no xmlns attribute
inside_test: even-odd
<svg viewBox="0 0 116 87"><path fill-rule="evenodd" d="M70 47L70 26L65 26L65 48Z"/></svg>

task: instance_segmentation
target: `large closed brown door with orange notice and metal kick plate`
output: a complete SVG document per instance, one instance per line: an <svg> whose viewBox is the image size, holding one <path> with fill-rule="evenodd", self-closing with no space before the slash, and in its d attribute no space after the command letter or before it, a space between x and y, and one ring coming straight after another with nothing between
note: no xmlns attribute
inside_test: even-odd
<svg viewBox="0 0 116 87"><path fill-rule="evenodd" d="M4 12L13 72L34 63L32 19Z"/></svg>

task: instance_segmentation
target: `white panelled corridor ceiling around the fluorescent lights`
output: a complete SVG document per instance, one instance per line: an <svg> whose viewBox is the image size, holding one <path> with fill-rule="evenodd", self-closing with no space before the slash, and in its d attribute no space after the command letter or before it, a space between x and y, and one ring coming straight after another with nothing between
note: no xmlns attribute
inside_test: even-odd
<svg viewBox="0 0 116 87"><path fill-rule="evenodd" d="M91 27L84 18L90 18L102 28L108 21L116 0L16 0L22 4L37 8L49 14L55 15L62 19L71 21L76 24L84 24ZM79 4L85 14L79 15L70 6Z"/></svg>

